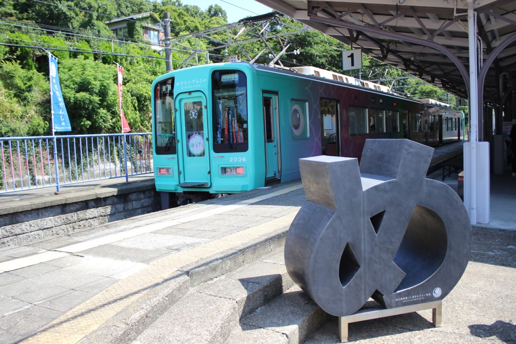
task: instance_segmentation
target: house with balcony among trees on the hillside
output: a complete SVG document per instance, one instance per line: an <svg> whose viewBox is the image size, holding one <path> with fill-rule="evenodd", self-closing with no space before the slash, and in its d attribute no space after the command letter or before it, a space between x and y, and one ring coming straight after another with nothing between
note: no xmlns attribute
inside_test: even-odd
<svg viewBox="0 0 516 344"><path fill-rule="evenodd" d="M154 50L163 49L165 33L162 22L153 12L144 12L104 22L120 41L143 39ZM119 43L121 45L122 43Z"/></svg>

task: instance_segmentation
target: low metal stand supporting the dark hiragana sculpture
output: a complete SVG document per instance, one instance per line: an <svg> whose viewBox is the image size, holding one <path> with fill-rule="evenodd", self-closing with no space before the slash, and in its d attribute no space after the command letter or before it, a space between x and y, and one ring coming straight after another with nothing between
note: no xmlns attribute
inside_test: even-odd
<svg viewBox="0 0 516 344"><path fill-rule="evenodd" d="M348 324L351 322L390 317L393 315L417 312L418 310L424 309L432 309L432 324L436 327L440 327L443 310L442 300L388 309L373 308L359 310L357 313L338 318L338 334L341 338L341 342L345 342L348 341Z"/></svg>

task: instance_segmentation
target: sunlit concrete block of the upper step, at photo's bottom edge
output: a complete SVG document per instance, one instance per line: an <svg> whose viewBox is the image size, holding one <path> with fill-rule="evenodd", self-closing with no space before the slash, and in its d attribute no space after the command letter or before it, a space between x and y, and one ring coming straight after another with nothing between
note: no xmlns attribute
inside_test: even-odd
<svg viewBox="0 0 516 344"><path fill-rule="evenodd" d="M222 343L238 324L233 300L191 293L136 339L142 343Z"/></svg>

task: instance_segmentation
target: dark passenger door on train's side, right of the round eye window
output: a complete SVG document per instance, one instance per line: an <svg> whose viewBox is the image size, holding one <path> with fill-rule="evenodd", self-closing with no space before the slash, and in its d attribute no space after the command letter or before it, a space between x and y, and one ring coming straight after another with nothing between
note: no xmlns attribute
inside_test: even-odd
<svg viewBox="0 0 516 344"><path fill-rule="evenodd" d="M321 99L321 153L322 155L340 155L340 135L338 120L338 102L333 99Z"/></svg>

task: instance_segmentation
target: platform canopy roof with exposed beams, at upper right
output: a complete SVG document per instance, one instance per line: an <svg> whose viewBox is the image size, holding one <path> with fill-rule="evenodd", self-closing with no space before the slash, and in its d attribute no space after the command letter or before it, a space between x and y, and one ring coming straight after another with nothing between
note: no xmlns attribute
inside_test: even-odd
<svg viewBox="0 0 516 344"><path fill-rule="evenodd" d="M353 48L360 47L369 56L467 97L466 0L257 1ZM499 94L501 77L512 80L515 76L516 1L476 0L474 9L483 60L497 46L504 46L486 76L484 96L489 100Z"/></svg>

